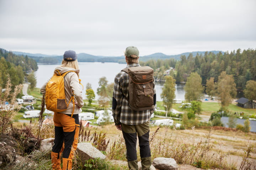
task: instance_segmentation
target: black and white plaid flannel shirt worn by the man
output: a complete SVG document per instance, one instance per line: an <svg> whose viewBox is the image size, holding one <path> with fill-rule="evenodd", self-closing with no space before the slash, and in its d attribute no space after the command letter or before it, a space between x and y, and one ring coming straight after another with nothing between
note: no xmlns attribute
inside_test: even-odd
<svg viewBox="0 0 256 170"><path fill-rule="evenodd" d="M129 67L138 67L138 63L128 64ZM155 106L151 110L145 111L134 111L130 108L126 98L129 96L128 91L129 85L129 75L126 72L119 72L114 80L114 90L113 90L113 103L116 100L116 108L112 106L112 112L114 117L115 125L120 125L121 123L127 125L139 125L148 121L151 114L155 111ZM154 82L154 94L155 92L155 82ZM123 97L125 96L125 97ZM113 104L114 105L114 104Z"/></svg>

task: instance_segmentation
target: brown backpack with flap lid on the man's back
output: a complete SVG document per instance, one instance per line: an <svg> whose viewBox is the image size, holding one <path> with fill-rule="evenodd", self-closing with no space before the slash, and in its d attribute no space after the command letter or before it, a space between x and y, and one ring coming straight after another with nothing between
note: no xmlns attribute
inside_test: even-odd
<svg viewBox="0 0 256 170"><path fill-rule="evenodd" d="M154 70L151 67L130 67L122 69L129 75L130 108L144 111L154 108Z"/></svg>

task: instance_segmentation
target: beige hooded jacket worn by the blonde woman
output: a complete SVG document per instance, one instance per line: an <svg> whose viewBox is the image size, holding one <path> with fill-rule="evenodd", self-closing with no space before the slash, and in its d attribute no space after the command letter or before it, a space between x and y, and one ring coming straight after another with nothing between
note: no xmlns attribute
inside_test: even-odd
<svg viewBox="0 0 256 170"><path fill-rule="evenodd" d="M75 105L74 114L81 113L82 112L81 108L84 106L84 101L82 100L82 90L81 90L81 86L79 84L79 79L77 75L79 73L79 70L76 70L73 68L67 68L67 67L60 67L60 66L55 68L55 72L56 70L58 70L60 74L63 74L71 70L75 72L75 73L69 72L64 77L65 96L66 96L66 102L68 103L73 94L72 91L74 92L75 102L78 103L77 105ZM58 72L57 74L59 75ZM50 79L48 81L50 81ZM46 85L48 81L41 87L41 90L40 90L44 95L46 94ZM78 109L78 107L80 107L80 109ZM73 111L73 103L71 101L69 103L68 109L66 109L66 111L61 113L72 114L72 111Z"/></svg>

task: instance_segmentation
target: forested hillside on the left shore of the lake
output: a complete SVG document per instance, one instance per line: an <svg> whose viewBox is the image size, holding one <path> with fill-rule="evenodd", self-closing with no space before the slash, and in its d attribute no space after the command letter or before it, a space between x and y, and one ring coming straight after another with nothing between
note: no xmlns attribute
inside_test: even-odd
<svg viewBox="0 0 256 170"><path fill-rule="evenodd" d="M36 71L37 62L28 56L18 56L12 52L0 49L0 86L4 87L7 73L12 79L12 85L23 83L26 71Z"/></svg>

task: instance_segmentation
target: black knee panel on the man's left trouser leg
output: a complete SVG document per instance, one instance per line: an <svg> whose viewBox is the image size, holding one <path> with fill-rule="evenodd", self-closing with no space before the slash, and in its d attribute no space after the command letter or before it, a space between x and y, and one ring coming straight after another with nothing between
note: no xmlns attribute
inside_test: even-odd
<svg viewBox="0 0 256 170"><path fill-rule="evenodd" d="M128 134L123 131L123 137L126 142L126 151L127 151L127 160L134 161L137 160L137 151L136 151L136 144L137 144L137 133Z"/></svg>

